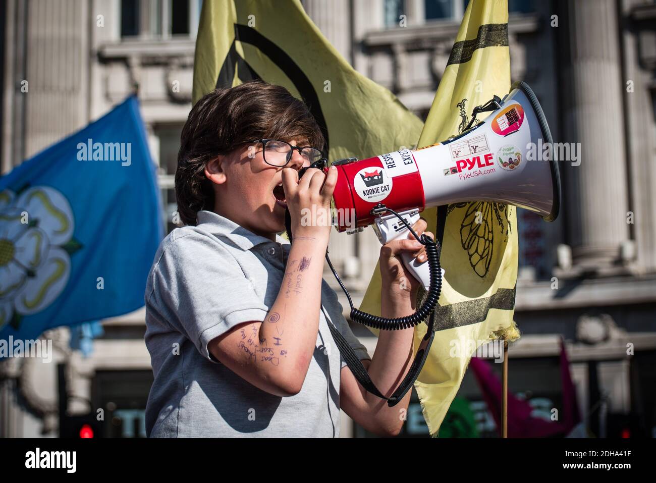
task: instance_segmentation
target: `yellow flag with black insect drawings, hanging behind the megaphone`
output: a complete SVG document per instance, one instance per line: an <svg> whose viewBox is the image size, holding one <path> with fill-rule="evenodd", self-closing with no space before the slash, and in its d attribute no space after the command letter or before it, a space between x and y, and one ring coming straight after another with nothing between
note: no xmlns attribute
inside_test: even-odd
<svg viewBox="0 0 656 483"><path fill-rule="evenodd" d="M475 106L509 90L508 2L470 1L418 146L461 133ZM489 340L519 337L513 320L517 222L515 207L485 202L430 208L422 217L442 240L445 270L435 338L415 383L428 430L436 436L473 350ZM360 310L380 313L378 270ZM417 326L415 347L425 333L425 324Z"/></svg>

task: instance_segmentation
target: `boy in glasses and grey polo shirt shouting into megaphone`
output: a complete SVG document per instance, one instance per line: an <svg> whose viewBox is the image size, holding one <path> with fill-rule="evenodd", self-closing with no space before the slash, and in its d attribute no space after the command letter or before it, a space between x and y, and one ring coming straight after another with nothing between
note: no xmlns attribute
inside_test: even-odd
<svg viewBox="0 0 656 483"><path fill-rule="evenodd" d="M298 179L325 144L308 108L260 81L217 89L192 108L180 141L186 226L161 243L145 294L148 436L337 437L340 408L369 431L398 434L410 392L388 408L360 387L326 318L386 396L409 369L413 329L381 331L369 357L321 278L331 226L304 226L301 215L329 209L337 171ZM285 207L291 244L279 235ZM414 240L382 247L384 317L415 311L419 282L396 257L404 250L426 259Z"/></svg>

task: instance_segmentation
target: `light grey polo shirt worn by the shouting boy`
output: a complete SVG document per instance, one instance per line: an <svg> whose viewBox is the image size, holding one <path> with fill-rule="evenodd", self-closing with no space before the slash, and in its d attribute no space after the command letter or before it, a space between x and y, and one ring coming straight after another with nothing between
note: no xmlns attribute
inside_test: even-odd
<svg viewBox="0 0 656 483"><path fill-rule="evenodd" d="M302 389L281 398L256 388L207 350L243 322L264 321L283 282L291 245L258 236L211 211L171 232L146 285L146 347L155 381L150 437L339 436L340 370L346 366L325 314L360 359L370 359L323 280L314 357Z"/></svg>

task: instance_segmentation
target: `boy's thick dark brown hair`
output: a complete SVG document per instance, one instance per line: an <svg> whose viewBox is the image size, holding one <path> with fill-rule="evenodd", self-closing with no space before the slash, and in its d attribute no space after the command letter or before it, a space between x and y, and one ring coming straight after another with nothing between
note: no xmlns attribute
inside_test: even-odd
<svg viewBox="0 0 656 483"><path fill-rule="evenodd" d="M260 138L291 141L307 138L324 149L325 140L308 106L279 85L252 81L215 89L192 108L180 135L175 194L184 224L195 225L196 213L214 208L212 182L205 165L219 154Z"/></svg>

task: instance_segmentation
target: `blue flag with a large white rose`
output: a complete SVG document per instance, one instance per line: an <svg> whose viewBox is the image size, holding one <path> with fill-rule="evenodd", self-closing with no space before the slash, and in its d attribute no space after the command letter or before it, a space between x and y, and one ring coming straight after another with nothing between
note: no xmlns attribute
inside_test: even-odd
<svg viewBox="0 0 656 483"><path fill-rule="evenodd" d="M160 213L134 96L0 178L0 341L143 306Z"/></svg>

